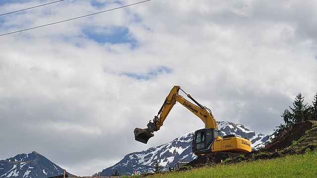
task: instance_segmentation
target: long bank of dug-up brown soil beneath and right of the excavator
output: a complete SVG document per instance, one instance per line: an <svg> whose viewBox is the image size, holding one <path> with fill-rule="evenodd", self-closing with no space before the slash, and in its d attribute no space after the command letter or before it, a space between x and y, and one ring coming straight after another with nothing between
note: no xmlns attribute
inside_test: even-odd
<svg viewBox="0 0 317 178"><path fill-rule="evenodd" d="M198 156L197 159L191 161L186 166L202 167L214 166L227 159L228 163L236 163L244 160L258 160L258 159L272 159L283 157L292 154L305 153L307 148L311 150L317 149L317 127L313 125L317 121L305 121L296 124L293 128L276 137L273 142L267 144L263 149L252 151L251 153L230 153L230 152L216 152L208 155ZM292 144L294 140L298 140L305 132L310 130L308 136L299 143L300 149L284 149ZM186 170L186 167L183 168Z"/></svg>

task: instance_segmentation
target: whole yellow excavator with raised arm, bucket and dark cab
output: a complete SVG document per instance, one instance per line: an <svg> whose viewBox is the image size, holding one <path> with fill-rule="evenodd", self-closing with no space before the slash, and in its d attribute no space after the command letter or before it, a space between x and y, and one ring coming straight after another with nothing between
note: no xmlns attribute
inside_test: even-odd
<svg viewBox="0 0 317 178"><path fill-rule="evenodd" d="M182 90L193 102L186 100L178 94ZM148 123L146 129L136 128L134 130L135 140L147 144L148 140L154 136L154 132L159 131L168 113L176 104L176 101L198 116L204 123L205 129L195 131L193 139L193 153L196 155L209 154L212 152L251 152L251 142L246 138L235 135L221 136L217 122L211 114L211 110L199 104L190 94L187 94L180 86L174 86L167 95L159 113L154 117L153 122Z"/></svg>

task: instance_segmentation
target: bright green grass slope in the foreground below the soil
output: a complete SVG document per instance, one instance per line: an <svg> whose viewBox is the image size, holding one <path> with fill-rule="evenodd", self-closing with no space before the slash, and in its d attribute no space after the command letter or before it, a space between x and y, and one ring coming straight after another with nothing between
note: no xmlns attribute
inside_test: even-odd
<svg viewBox="0 0 317 178"><path fill-rule="evenodd" d="M146 178L314 178L316 175L317 152L308 151L302 155L238 164L222 164L216 167L158 174Z"/></svg>

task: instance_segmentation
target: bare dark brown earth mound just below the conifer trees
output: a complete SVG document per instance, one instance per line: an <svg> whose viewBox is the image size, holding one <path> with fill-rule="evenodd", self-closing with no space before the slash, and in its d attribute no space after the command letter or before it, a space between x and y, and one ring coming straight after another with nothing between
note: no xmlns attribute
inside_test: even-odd
<svg viewBox="0 0 317 178"><path fill-rule="evenodd" d="M292 144L293 140L301 138L305 131L312 129L317 121L304 121L295 124L290 131L284 132L274 139L273 142L267 144L262 151L274 151L275 149L286 148Z"/></svg>

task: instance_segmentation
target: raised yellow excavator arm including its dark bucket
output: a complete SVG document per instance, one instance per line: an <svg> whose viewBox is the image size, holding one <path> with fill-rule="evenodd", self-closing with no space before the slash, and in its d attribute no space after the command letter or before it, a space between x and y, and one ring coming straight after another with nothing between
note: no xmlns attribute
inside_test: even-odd
<svg viewBox="0 0 317 178"><path fill-rule="evenodd" d="M186 100L183 96L178 94L180 86L174 86L169 94L166 96L166 99L159 109L158 115L154 117L153 122L150 121L147 129L136 128L134 130L135 139L142 143L147 143L148 140L154 136L154 132L159 131L159 128L163 125L168 113L171 111L173 106L176 104L176 101L182 104L185 108L199 117L204 123L206 129L218 129L216 120L211 114L211 110L207 107L199 104L190 94L187 94L182 90L190 99L192 99L197 105Z"/></svg>

